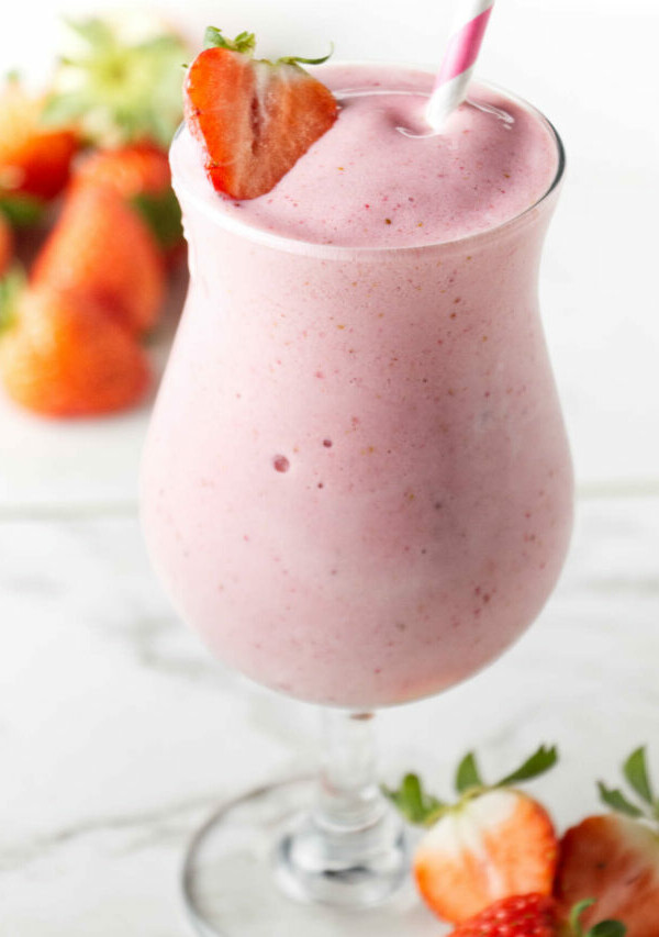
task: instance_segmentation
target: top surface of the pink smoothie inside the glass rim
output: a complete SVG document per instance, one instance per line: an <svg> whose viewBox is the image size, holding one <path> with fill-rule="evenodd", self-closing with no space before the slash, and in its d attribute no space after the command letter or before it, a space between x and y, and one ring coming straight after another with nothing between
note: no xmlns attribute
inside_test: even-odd
<svg viewBox="0 0 659 937"><path fill-rule="evenodd" d="M472 86L431 134L431 75L340 65L314 74L337 96L339 118L267 194L216 197L242 222L320 244L423 245L502 224L551 186L550 129L492 89Z"/></svg>

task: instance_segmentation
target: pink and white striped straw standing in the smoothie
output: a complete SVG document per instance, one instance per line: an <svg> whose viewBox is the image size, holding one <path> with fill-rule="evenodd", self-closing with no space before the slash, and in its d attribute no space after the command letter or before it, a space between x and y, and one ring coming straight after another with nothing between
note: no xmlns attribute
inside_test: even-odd
<svg viewBox="0 0 659 937"><path fill-rule="evenodd" d="M494 0L463 0L458 7L450 40L428 107L426 120L440 130L447 116L467 96L473 66L478 57Z"/></svg>

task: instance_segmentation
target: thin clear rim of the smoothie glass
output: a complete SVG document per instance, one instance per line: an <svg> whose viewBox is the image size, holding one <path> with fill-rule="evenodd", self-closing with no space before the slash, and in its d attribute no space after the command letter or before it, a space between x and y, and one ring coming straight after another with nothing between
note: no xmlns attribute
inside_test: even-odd
<svg viewBox="0 0 659 937"><path fill-rule="evenodd" d="M396 63L389 63L389 64L392 66L396 65L396 67L399 67L399 64L396 64ZM336 65L336 66L355 66L355 65L357 65L357 66L368 67L368 66L381 65L381 63L376 62L376 60L372 60L372 62L366 62L366 60L362 60L362 62L350 62L350 60L338 62L337 60L336 63L332 63L332 65ZM327 66L327 67L331 67L331 66ZM403 67L414 69L415 71L422 71L424 74L432 74L428 69L424 68L421 65L407 65L407 66L403 66ZM322 66L321 66L321 68L322 68ZM527 205L527 208L523 209L517 214L513 215L510 219L506 219L505 221L501 222L500 224L493 225L492 227L487 227L487 228L483 228L482 231L477 231L473 234L465 234L461 237L448 238L445 241L432 241L427 244L400 244L400 245L387 244L387 245L380 245L380 246L378 246L378 245L348 246L345 244L324 244L324 243L317 242L317 241L304 241L303 238L299 238L299 237L287 237L283 234L273 234L272 232L266 231L265 228L259 228L255 225L248 224L247 222L239 221L238 219L234 217L233 215L230 215L228 213L224 212L221 208L220 201L217 201L216 203L211 203L211 202L200 198L198 193L192 192L189 188L186 188L186 186L178 186L178 187L175 186L175 189L180 188L181 191L185 192L186 198L189 199L190 202L196 205L196 208L200 209L201 212L203 214L205 214L206 216L210 216L211 220L216 222L221 227L224 227L226 231L230 231L234 234L237 234L237 235L244 237L245 239L252 241L256 244L261 244L261 245L265 245L268 247L272 247L272 248L276 248L279 250L287 250L288 253L292 253L292 254L303 254L303 255L315 256L315 257L321 257L321 258L325 258L325 259L342 259L342 258L348 258L350 256L367 257L369 255L371 255L371 256L388 256L388 255L394 254L394 253L398 254L401 250L425 252L425 250L437 249L438 247L445 247L445 248L449 248L453 246L461 247L463 245L471 245L471 244L479 243L481 241L487 241L492 236L496 236L496 235L501 234L502 232L507 231L509 228L516 227L524 219L526 219L528 215L532 214L532 212L534 212L537 208L539 208L549 198L549 196L551 196L551 193L554 191L556 191L556 189L558 188L558 186L560 185L560 182L565 176L566 150L565 150L563 142L560 137L560 134L558 133L558 131L556 130L556 127L551 123L551 121L541 111L539 111L529 101L527 101L525 98L521 98L518 94L515 94L512 91L509 91L506 88L503 88L501 85L498 85L494 81L489 81L489 80L483 79L483 78L473 79L473 83L474 85L482 85L488 89L491 89L493 91L498 91L501 94L503 94L505 98L509 98L510 100L514 101L516 104L521 105L522 108L525 108L532 114L535 114L549 129L551 136L554 138L554 142L555 142L555 145L556 145L556 154L557 154L556 172L554 175L554 178L552 178L550 185L545 190L545 192L543 192L543 194L538 199L536 199L536 201L533 202L530 205ZM171 153L172 153L174 145L175 145L176 141L185 132L186 132L186 123L183 121L179 124L179 126L178 126L178 129L174 135L174 138L171 141L170 150L169 150L169 154L170 154L169 158L170 158L170 165L171 165L171 170L172 170L172 178L176 174L174 171L174 160L171 157ZM209 183L209 186L210 186L210 183ZM213 196L216 196L216 193L212 189L210 191ZM177 192L177 194L178 194L178 192Z"/></svg>

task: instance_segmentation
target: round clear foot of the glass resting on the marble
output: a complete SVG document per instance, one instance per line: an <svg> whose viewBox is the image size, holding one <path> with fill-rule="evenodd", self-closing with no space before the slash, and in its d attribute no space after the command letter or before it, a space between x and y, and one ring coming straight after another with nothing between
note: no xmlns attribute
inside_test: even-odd
<svg viewBox="0 0 659 937"><path fill-rule="evenodd" d="M409 875L404 833L365 830L359 865L325 847L310 821L315 779L260 788L224 804L190 844L186 910L201 937L442 937ZM392 823L387 815L383 823ZM389 830L390 833L392 830ZM365 858L366 857L366 858Z"/></svg>

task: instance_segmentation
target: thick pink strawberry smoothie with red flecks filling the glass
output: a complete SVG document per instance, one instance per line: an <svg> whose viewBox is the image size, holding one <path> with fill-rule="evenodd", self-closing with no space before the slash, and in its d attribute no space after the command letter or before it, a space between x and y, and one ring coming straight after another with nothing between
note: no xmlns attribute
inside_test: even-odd
<svg viewBox="0 0 659 937"><path fill-rule="evenodd" d="M175 142L191 287L143 517L217 657L370 707L472 674L560 570L572 480L537 308L559 145L492 89L428 135L429 76L319 74L338 121L259 199L214 193Z"/></svg>

